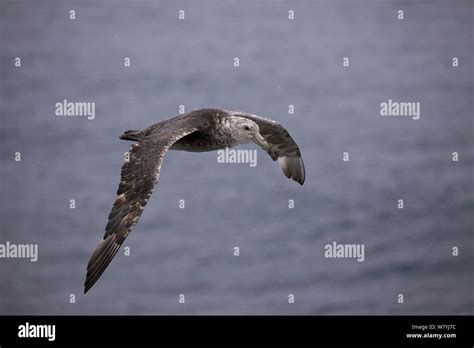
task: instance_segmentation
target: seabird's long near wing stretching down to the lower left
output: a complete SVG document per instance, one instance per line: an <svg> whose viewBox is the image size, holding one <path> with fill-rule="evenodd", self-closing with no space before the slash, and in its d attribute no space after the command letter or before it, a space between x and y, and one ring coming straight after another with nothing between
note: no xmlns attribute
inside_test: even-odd
<svg viewBox="0 0 474 348"><path fill-rule="evenodd" d="M104 238L87 265L84 293L99 279L137 223L158 182L167 150L177 140L200 129L199 122L184 122L182 118L169 121L152 126L151 134L130 146L129 160L122 166L121 181Z"/></svg>

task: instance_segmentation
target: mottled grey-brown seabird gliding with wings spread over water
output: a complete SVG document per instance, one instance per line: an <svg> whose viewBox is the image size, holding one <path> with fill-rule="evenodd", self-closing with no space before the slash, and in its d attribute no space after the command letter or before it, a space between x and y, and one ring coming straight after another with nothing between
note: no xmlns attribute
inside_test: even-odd
<svg viewBox="0 0 474 348"><path fill-rule="evenodd" d="M303 185L304 162L298 145L278 122L242 111L198 109L128 130L122 140L130 146L122 165L117 196L103 239L87 264L84 294L97 282L136 225L157 184L168 150L207 152L255 143L277 161L285 176Z"/></svg>

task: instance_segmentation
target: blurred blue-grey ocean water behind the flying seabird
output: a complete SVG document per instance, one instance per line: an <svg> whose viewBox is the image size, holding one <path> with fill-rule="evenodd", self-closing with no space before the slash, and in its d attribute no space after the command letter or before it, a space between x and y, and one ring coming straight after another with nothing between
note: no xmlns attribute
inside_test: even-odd
<svg viewBox="0 0 474 348"><path fill-rule="evenodd" d="M38 244L39 259L0 259L0 313L472 314L473 7L2 0L0 243ZM94 102L95 119L55 116L64 99ZM420 119L381 117L389 99L419 102ZM82 295L118 136L179 105L281 122L304 186L260 150L255 168L169 152L130 255ZM333 241L363 244L364 261L325 257Z"/></svg>

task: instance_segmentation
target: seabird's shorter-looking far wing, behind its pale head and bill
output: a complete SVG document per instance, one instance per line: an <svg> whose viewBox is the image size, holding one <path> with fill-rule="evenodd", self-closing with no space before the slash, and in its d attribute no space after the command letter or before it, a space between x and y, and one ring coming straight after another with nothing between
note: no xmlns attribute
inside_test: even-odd
<svg viewBox="0 0 474 348"><path fill-rule="evenodd" d="M276 161L288 178L303 185L305 180L304 162L300 149L288 131L280 123L256 115L242 114L258 124L260 134L265 138L269 147L263 148Z"/></svg>

